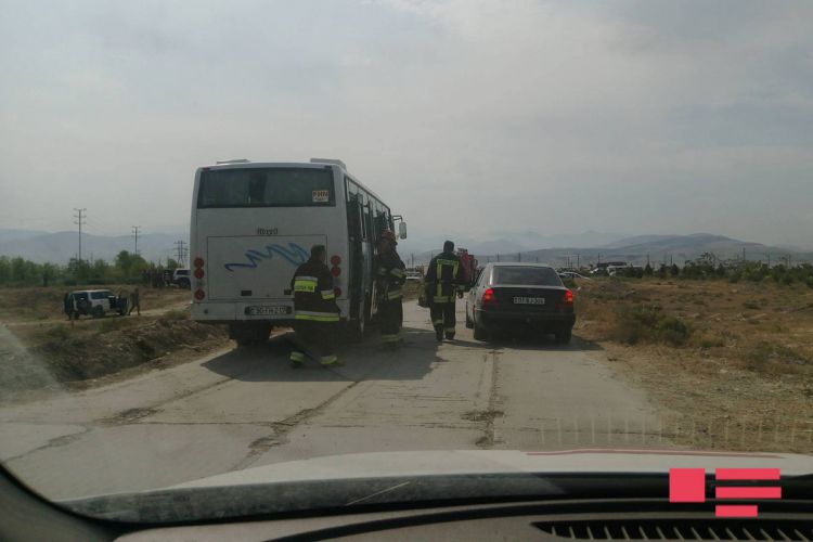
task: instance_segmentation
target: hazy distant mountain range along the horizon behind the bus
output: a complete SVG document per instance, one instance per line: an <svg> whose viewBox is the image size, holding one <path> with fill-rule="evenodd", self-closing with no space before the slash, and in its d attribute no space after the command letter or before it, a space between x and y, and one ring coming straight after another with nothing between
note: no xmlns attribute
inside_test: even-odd
<svg viewBox="0 0 813 542"><path fill-rule="evenodd" d="M146 233L139 236L139 253L151 261L166 261L177 254L176 242L189 242L184 227L168 228L169 232ZM411 234L399 243L399 253L406 264L425 263L438 254L447 237ZM482 237L452 236L457 247L465 247L481 261L540 261L562 266L594 261L623 260L631 263L683 263L704 253L720 259L779 261L788 255L792 261L811 261L813 254L784 246L769 246L739 241L723 235L697 233L692 235L633 235L584 232L580 234L543 235L537 232L493 232ZM21 256L36 262L66 263L78 251L77 232L48 233L34 230L0 229L0 256ZM431 249L434 248L434 249ZM120 250L133 249L130 235L82 234L82 258L112 261Z"/></svg>

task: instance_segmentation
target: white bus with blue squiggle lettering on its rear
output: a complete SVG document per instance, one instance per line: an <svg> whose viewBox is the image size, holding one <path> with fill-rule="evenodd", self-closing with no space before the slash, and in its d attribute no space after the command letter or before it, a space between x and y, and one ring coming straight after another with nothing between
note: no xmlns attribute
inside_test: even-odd
<svg viewBox="0 0 813 542"><path fill-rule="evenodd" d="M192 196L192 319L228 323L238 344L293 322L291 279L312 245L327 248L340 319L361 338L375 315L374 251L400 220L340 160L219 162Z"/></svg>

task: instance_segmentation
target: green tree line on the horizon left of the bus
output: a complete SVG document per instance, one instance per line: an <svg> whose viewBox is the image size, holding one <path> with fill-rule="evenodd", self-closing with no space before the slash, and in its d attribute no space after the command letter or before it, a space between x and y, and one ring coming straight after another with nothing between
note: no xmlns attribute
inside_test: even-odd
<svg viewBox="0 0 813 542"><path fill-rule="evenodd" d="M142 281L145 272L163 272L180 266L172 258L166 264L146 261L138 254L121 250L113 261L72 258L67 264L36 263L20 257L0 256L0 286L76 286L129 284Z"/></svg>

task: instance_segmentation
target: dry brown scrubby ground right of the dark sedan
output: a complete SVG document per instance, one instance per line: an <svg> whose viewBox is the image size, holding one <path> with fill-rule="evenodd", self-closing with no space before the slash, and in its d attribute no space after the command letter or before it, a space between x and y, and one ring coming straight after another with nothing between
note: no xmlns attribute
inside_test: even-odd
<svg viewBox="0 0 813 542"><path fill-rule="evenodd" d="M647 279L579 286L575 333L660 405L672 440L813 452L813 288Z"/></svg>

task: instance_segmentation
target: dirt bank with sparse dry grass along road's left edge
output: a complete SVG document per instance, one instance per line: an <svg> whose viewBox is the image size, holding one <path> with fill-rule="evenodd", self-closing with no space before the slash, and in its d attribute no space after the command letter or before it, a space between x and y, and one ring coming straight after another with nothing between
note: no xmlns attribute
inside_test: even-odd
<svg viewBox="0 0 813 542"><path fill-rule="evenodd" d="M0 325L3 401L85 389L184 363L231 346L223 325L189 319L189 310L30 325Z"/></svg>

